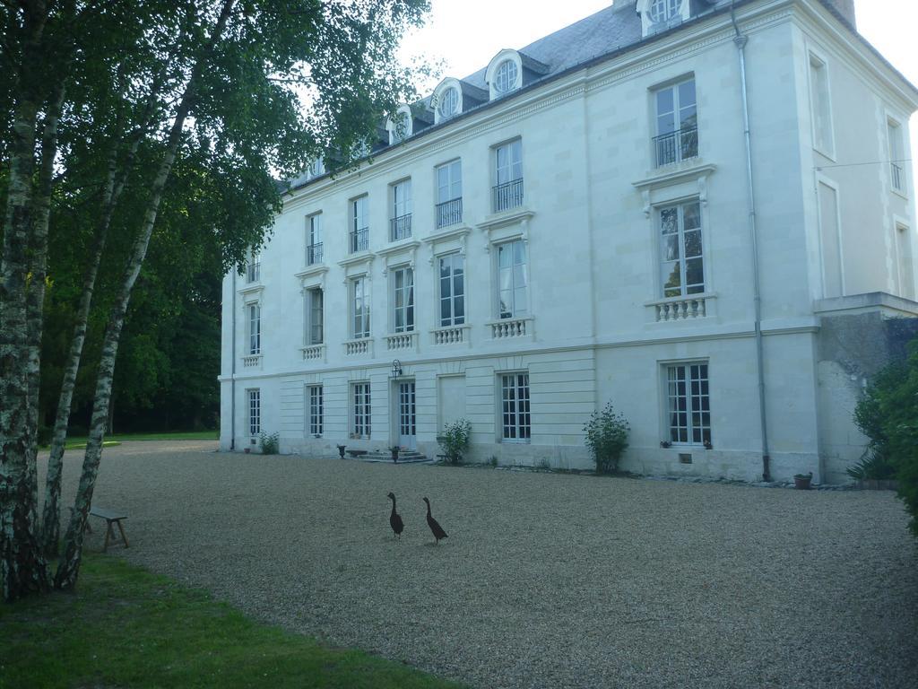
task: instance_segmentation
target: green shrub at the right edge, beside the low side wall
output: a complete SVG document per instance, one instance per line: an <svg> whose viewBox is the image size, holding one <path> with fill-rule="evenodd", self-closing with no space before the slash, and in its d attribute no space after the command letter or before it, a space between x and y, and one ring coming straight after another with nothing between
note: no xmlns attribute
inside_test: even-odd
<svg viewBox="0 0 918 689"><path fill-rule="evenodd" d="M869 469L882 475L864 478L897 480L918 536L918 339L909 344L905 363L885 368L874 379L857 403L855 424L870 440L864 457L848 473L860 478L856 473Z"/></svg>

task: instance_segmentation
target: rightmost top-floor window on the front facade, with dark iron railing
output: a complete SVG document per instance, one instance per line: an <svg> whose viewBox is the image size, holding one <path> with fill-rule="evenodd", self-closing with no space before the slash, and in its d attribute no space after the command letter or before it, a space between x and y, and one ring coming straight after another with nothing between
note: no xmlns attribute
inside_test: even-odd
<svg viewBox="0 0 918 689"><path fill-rule="evenodd" d="M698 155L698 108L695 80L655 92L656 164L666 165Z"/></svg>

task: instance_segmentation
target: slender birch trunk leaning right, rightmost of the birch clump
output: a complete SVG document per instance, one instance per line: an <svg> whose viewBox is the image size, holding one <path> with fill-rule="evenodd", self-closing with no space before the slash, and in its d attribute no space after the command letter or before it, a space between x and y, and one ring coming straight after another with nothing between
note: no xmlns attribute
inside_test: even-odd
<svg viewBox="0 0 918 689"><path fill-rule="evenodd" d="M182 140L185 120L188 118L188 111L195 98L197 79L205 68L214 46L220 40L223 30L226 28L235 2L236 0L225 0L214 31L209 40L207 40L207 46L202 51L185 86L185 93L175 113L172 130L169 132L166 151L151 186L150 200L144 212L140 232L131 248L129 262L122 277L118 298L112 307L108 325L106 326L105 339L102 344L102 356L99 360L99 369L95 382L95 400L93 401L93 415L90 421L89 441L86 444L86 454L83 460L83 472L80 476L80 486L77 490L76 501L73 504L73 515L64 539L64 552L54 577L54 585L59 589L72 589L79 575L83 555L84 530L89 516L89 509L92 505L95 478L98 475L99 461L102 457L102 441L105 438L108 408L111 403L112 378L115 374L115 360L118 356L118 340L121 335L121 328L124 325L125 314L128 311L130 293L140 274L143 259L147 254L147 246L150 243L153 225L156 223L156 214L162 201L162 190L165 188L169 174L172 172L175 154Z"/></svg>

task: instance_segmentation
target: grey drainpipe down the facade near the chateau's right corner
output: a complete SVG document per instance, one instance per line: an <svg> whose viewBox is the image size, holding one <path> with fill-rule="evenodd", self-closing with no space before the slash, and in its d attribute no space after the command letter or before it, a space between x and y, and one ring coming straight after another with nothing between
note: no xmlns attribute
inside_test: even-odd
<svg viewBox="0 0 918 689"><path fill-rule="evenodd" d="M749 237L752 240L752 278L753 278L753 299L756 305L756 369L758 373L758 412L759 424L762 431L762 480L771 480L771 470L769 464L771 457L768 456L768 422L765 411L765 356L762 352L762 290L759 283L759 265L758 265L758 232L756 229L756 197L753 186L752 175L752 141L749 135L749 100L746 92L746 73L745 73L745 45L748 37L740 32L739 25L736 23L734 13L734 2L730 2L730 20L733 22L733 30L736 36L733 43L739 52L740 58L740 94L743 98L743 135L746 153L746 193L749 203Z"/></svg>

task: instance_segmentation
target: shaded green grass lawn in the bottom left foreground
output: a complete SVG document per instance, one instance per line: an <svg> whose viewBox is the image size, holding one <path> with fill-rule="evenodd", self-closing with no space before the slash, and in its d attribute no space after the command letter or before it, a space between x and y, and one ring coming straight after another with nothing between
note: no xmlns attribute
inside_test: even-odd
<svg viewBox="0 0 918 689"><path fill-rule="evenodd" d="M123 560L84 556L77 593L0 604L0 688L458 684L258 624L208 593Z"/></svg>

